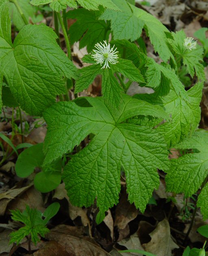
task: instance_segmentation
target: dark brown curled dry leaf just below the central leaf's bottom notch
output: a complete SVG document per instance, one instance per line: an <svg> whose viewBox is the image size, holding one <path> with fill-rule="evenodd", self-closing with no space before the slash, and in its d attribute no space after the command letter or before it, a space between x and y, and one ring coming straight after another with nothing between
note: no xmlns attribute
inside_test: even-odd
<svg viewBox="0 0 208 256"><path fill-rule="evenodd" d="M137 214L138 212L134 204L128 202L126 191L122 191L115 210L114 226L117 226L119 229L124 229L130 221L137 217Z"/></svg>

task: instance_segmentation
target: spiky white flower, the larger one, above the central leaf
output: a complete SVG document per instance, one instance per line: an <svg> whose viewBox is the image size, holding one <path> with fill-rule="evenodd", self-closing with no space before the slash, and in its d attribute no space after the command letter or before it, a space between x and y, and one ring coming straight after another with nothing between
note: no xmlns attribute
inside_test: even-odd
<svg viewBox="0 0 208 256"><path fill-rule="evenodd" d="M111 48L110 43L107 44L106 41L104 41L104 43L96 43L95 48L98 50L93 50L95 54L92 54L94 60L97 61L96 64L100 63L100 65L102 66L102 64L104 63L102 68L107 68L109 67L108 62L111 64L118 63L118 52L116 52L117 48L114 49L114 46L113 48Z"/></svg>

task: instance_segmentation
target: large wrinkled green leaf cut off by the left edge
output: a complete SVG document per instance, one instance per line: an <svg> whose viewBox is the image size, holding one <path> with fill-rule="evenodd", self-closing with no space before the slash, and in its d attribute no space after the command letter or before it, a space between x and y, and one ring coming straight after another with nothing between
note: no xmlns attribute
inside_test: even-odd
<svg viewBox="0 0 208 256"><path fill-rule="evenodd" d="M65 93L63 76L76 68L56 43L54 31L43 24L27 25L11 42L8 3L0 0L0 67L15 100L32 115Z"/></svg>

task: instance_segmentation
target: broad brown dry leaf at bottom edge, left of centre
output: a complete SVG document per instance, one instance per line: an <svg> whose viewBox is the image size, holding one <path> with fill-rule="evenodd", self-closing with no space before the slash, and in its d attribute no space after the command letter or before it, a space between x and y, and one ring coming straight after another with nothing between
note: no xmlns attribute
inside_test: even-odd
<svg viewBox="0 0 208 256"><path fill-rule="evenodd" d="M46 234L49 240L60 243L70 256L109 256L93 239L83 236L83 227L58 225Z"/></svg>

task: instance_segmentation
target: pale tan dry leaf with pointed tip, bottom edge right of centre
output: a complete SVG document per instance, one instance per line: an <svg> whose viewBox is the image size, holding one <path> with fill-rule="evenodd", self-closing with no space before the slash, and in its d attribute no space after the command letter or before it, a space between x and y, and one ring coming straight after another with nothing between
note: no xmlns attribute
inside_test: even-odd
<svg viewBox="0 0 208 256"><path fill-rule="evenodd" d="M160 221L156 229L150 233L150 236L152 238L151 241L143 244L147 252L152 252L157 256L172 256L172 250L179 248L171 238L170 226L167 219Z"/></svg>

